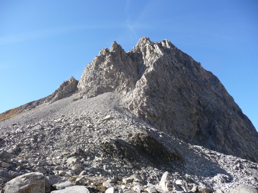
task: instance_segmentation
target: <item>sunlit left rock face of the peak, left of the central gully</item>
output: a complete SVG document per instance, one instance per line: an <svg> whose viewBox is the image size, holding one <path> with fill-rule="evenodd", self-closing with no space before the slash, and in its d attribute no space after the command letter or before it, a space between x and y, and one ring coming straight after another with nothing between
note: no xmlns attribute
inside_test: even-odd
<svg viewBox="0 0 258 193"><path fill-rule="evenodd" d="M101 49L99 55L86 66L78 89L88 97L112 91L125 94L132 91L139 80L141 54L130 55L116 42L110 49Z"/></svg>

